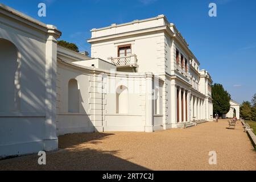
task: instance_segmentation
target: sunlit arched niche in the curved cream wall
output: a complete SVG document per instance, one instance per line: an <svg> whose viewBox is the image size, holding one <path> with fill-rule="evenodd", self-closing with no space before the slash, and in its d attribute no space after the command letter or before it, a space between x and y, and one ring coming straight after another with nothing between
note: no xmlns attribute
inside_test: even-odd
<svg viewBox="0 0 256 182"><path fill-rule="evenodd" d="M117 113L129 113L129 92L127 87L124 85L118 86L116 96Z"/></svg>

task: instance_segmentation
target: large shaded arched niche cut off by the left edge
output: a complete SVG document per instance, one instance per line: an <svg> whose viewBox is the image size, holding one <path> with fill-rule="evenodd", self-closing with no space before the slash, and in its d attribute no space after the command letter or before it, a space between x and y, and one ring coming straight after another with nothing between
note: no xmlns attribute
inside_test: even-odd
<svg viewBox="0 0 256 182"><path fill-rule="evenodd" d="M0 112L19 109L18 49L9 40L0 39Z"/></svg>

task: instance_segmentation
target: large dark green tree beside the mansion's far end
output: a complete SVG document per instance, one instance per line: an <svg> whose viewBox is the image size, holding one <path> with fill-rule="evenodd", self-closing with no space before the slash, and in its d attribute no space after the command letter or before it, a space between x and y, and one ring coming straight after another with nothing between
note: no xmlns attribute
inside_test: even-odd
<svg viewBox="0 0 256 182"><path fill-rule="evenodd" d="M230 109L230 94L224 90L221 84L212 86L213 114L226 114Z"/></svg>

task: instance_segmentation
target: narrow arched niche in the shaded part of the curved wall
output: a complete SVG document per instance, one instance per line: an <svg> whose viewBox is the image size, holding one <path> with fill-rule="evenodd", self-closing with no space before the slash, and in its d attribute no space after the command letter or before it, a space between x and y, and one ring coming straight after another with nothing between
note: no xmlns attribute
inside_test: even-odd
<svg viewBox="0 0 256 182"><path fill-rule="evenodd" d="M75 79L68 82L68 111L79 113L79 87Z"/></svg>

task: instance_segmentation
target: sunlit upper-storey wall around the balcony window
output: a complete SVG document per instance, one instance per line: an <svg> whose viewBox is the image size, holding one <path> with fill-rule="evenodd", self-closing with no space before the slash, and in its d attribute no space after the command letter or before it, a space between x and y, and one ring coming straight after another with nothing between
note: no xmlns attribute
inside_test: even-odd
<svg viewBox="0 0 256 182"><path fill-rule="evenodd" d="M131 44L131 53L137 55L138 72L164 72L164 33L137 35L92 43L92 57L109 61L118 56L118 46Z"/></svg>

